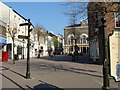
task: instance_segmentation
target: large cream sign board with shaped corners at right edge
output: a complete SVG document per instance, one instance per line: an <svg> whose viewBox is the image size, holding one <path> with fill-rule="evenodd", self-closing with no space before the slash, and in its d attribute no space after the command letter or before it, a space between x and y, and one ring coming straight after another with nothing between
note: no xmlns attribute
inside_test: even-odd
<svg viewBox="0 0 120 90"><path fill-rule="evenodd" d="M110 74L115 81L120 81L120 30L109 36Z"/></svg>

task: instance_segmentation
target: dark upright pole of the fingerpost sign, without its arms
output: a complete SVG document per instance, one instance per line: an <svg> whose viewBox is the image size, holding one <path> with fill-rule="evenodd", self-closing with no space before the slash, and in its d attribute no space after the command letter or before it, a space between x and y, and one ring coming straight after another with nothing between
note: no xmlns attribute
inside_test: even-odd
<svg viewBox="0 0 120 90"><path fill-rule="evenodd" d="M30 19L28 19L28 43L27 43L27 67L26 67L26 79L30 79Z"/></svg>

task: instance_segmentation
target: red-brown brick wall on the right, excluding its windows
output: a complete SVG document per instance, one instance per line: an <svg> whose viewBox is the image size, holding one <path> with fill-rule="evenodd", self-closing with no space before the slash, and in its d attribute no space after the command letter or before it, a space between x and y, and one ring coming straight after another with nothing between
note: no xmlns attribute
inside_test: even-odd
<svg viewBox="0 0 120 90"><path fill-rule="evenodd" d="M99 46L99 64L102 64L103 63L103 45L102 45L102 35L100 34L100 28L99 26L101 25L101 17L105 17L106 18L106 34L107 34L107 38L108 38L108 35L114 31L114 30L120 30L118 28L115 28L115 13L114 12L107 12L107 13L103 13L101 11L102 8L99 7L99 5L95 5L95 3L89 3L89 8L88 8L88 26L89 26L89 40L90 42L92 43L94 41L94 38L95 37L98 37L98 46ZM107 6L107 9L108 10L114 10L115 8L117 7L117 5L115 4L111 4L111 3L108 3L108 6ZM96 15L96 12L93 12L93 11L96 11L98 12L98 14ZM95 29L95 24L96 24L96 20L98 20L98 31ZM95 44L95 42L93 43ZM96 46L95 46L96 47ZM90 49L92 48L92 46L90 46ZM96 47L97 49L97 47ZM95 49L94 49L95 50ZM93 53L94 51L90 52ZM94 54L95 55L95 54ZM95 56L96 57L96 56ZM93 59L93 58L92 58ZM96 58L96 61L97 61L97 58Z"/></svg>

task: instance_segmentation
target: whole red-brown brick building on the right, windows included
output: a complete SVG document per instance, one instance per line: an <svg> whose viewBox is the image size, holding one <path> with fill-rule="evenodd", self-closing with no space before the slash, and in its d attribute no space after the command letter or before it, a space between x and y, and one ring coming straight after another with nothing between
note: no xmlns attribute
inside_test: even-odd
<svg viewBox="0 0 120 90"><path fill-rule="evenodd" d="M120 30L120 12L113 12L119 5L113 3L106 4L106 11L100 3L88 4L88 26L89 26L89 42L90 42L90 59L102 64L103 63L103 46L100 34L101 17L106 18L106 34L108 35L114 30Z"/></svg>

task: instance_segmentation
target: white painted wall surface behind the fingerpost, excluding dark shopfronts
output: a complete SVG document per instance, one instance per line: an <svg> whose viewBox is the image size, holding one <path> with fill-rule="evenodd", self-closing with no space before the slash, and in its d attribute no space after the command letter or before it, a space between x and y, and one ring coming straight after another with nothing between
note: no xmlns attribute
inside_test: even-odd
<svg viewBox="0 0 120 90"><path fill-rule="evenodd" d="M18 33L15 37L15 54L17 53L17 46L24 46L24 56L27 58L27 40L23 42L23 39L19 39L18 35L28 35L27 26L19 26L21 23L27 22L23 17L17 14L12 8L8 7L4 3L0 2L0 20L4 21L9 25L9 28L17 28ZM6 26L7 27L7 26ZM33 28L31 26L31 28ZM8 29L8 28L7 28ZM34 44L34 31L31 33L30 39L32 44ZM12 39L9 34L7 34L7 43L12 43ZM13 45L13 43L12 43ZM30 49L30 57L34 57L34 47ZM12 53L13 58L13 53Z"/></svg>

